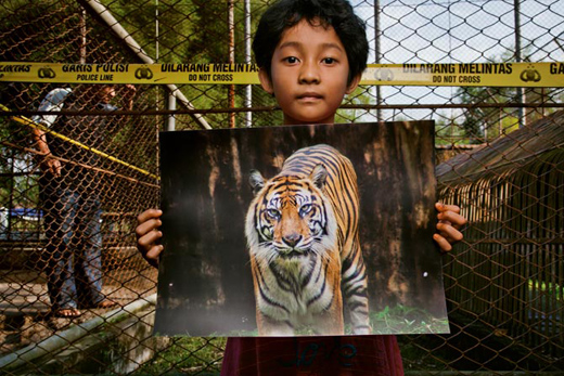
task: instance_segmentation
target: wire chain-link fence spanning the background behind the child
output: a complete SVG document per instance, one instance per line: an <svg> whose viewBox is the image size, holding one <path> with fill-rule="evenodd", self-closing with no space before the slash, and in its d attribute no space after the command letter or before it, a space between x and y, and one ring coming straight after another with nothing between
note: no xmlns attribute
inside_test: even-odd
<svg viewBox="0 0 564 376"><path fill-rule="evenodd" d="M369 63L564 61L561 1L352 4L368 26ZM266 7L5 0L0 60L246 63ZM156 272L134 249L136 216L158 205L159 130L271 126L282 115L258 87L136 89L0 86L0 104L11 112L0 117L7 374L218 373L223 339L151 336ZM46 112L61 109L57 99L69 113ZM439 198L470 220L465 239L444 259L452 333L399 337L407 372L564 372L563 99L560 88L360 87L339 111L339 122L434 119ZM116 107L120 115L108 113ZM48 157L41 141L60 153ZM68 176L59 176L60 165L70 167ZM53 216L60 210L64 220ZM74 265L65 252L84 248L92 250L77 262L90 267L68 286ZM85 283L89 293L75 294ZM56 310L69 301L76 309Z"/></svg>

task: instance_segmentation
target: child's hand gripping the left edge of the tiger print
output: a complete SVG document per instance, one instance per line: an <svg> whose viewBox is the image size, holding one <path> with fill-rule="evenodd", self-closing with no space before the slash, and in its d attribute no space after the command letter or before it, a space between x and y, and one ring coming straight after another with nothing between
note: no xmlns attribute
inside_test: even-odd
<svg viewBox="0 0 564 376"><path fill-rule="evenodd" d="M163 246L156 244L163 237L163 233L157 230L163 224L162 215L162 210L149 209L137 217L137 249L155 268L158 267L158 256L163 251Z"/></svg>

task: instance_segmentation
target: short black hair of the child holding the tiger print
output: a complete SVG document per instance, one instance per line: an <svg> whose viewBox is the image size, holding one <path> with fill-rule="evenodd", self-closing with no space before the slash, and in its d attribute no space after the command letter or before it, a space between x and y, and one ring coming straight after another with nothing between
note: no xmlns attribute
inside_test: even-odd
<svg viewBox="0 0 564 376"><path fill-rule="evenodd" d="M274 50L284 30L302 20L332 26L345 47L349 64L348 82L367 67L368 40L364 23L347 0L278 0L262 14L253 41L253 52L260 68L270 76Z"/></svg>

